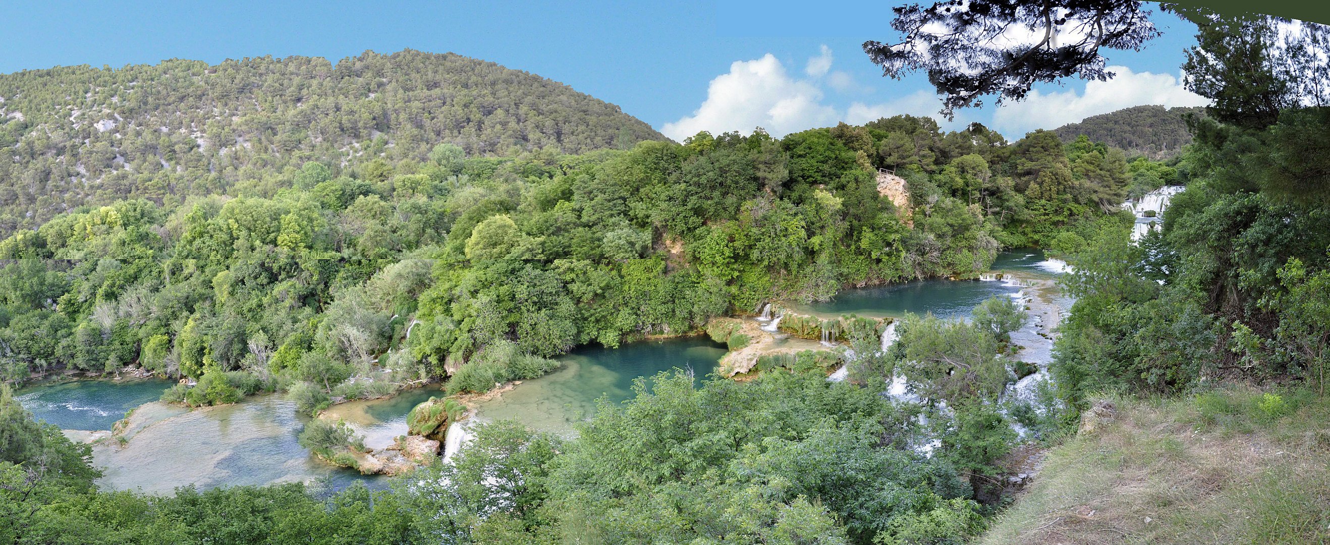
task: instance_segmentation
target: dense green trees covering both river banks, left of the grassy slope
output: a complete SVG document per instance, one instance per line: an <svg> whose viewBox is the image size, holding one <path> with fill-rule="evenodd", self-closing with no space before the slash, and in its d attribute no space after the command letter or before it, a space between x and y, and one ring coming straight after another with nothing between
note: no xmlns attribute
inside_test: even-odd
<svg viewBox="0 0 1330 545"><path fill-rule="evenodd" d="M424 161L384 152L367 165L307 161L231 194L84 206L11 235L0 242L5 378L142 370L189 379L166 401L283 391L309 412L420 379L483 392L544 374L556 366L547 356L580 344L700 332L714 316L843 286L972 275L1004 246L1073 251L1125 231L1128 186L1166 169L1085 138L1035 132L1008 144L908 116L584 154L438 144ZM878 169L903 178L900 209ZM1009 300L990 310L1003 312L1009 323L1020 311ZM1015 440L994 408L1013 379L1012 362L994 358L1005 331L994 327L912 318L895 351L861 360L864 376L902 358L934 362L902 371L936 383L922 395L952 407L927 409L931 420L922 405L827 382L826 362L801 356L745 383L657 378L636 400L601 407L575 441L485 425L455 464L416 476L438 488L403 481L327 500L299 485L90 492L94 471L53 473L85 464L84 447L9 401L5 437L27 447L5 460L49 463L7 465L5 490L69 502L7 494L16 514L4 532L41 541L78 525L98 537L70 536L92 541L197 541L230 524L200 509L243 505L254 522L227 530L237 542L282 542L307 524L352 542L962 536L995 509L971 477ZM878 331L854 342L876 346ZM939 350L955 343L987 354L983 387L944 379ZM932 457L914 451L934 437ZM475 477L495 471L507 477ZM733 514L717 518L717 505ZM56 514L65 508L81 514Z"/></svg>

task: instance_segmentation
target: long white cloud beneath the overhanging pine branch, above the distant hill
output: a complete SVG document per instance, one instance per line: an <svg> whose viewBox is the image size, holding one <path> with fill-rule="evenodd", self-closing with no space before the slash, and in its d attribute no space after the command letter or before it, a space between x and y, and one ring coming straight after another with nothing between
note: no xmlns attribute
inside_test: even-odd
<svg viewBox="0 0 1330 545"><path fill-rule="evenodd" d="M1132 72L1127 66L1108 66L1116 73L1108 81L1087 81L1085 90L1041 93L1029 92L1024 101L1007 102L994 109L994 129L1008 138L1020 138L1035 129L1056 129L1087 117L1123 108L1158 104L1164 106L1204 106L1209 100L1192 93L1169 74Z"/></svg>

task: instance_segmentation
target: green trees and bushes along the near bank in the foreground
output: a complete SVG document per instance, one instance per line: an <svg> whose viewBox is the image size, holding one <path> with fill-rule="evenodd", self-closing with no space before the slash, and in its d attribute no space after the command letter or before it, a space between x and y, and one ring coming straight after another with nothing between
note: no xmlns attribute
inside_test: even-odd
<svg viewBox="0 0 1330 545"><path fill-rule="evenodd" d="M3 429L24 465L0 461L0 537L84 542L896 542L974 534L986 508L947 459L902 449L912 408L823 372L747 383L661 374L622 405L602 403L563 441L500 421L476 429L454 464L383 492L327 500L302 485L174 496L96 492L88 448L32 423L0 385ZM743 409L735 409L742 407ZM7 432L0 437L11 437ZM344 423L313 420L301 443L354 465ZM47 445L49 455L25 451ZM61 447L64 445L64 447ZM342 455L347 455L343 460ZM32 460L68 468L33 473ZM72 481L72 483L70 483ZM37 493L33 493L33 492ZM310 532L310 528L319 528ZM964 532L964 534L956 534Z"/></svg>

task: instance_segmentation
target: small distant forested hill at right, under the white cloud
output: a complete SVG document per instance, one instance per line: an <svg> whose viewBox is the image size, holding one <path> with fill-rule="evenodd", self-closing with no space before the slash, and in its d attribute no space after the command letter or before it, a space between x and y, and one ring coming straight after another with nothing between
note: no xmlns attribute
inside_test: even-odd
<svg viewBox="0 0 1330 545"><path fill-rule="evenodd" d="M1182 146L1192 144L1192 133L1186 130L1182 114L1202 113L1204 108L1164 108L1158 105L1132 106L1100 116L1091 116L1079 124L1053 129L1064 142L1073 142L1085 134L1089 140L1104 142L1130 154L1142 154L1153 160L1176 157Z"/></svg>

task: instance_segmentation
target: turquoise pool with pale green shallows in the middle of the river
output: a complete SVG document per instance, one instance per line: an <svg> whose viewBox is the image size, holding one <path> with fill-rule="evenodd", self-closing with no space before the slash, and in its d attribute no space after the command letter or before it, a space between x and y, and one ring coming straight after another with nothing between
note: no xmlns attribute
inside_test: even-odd
<svg viewBox="0 0 1330 545"><path fill-rule="evenodd" d="M559 358L557 371L523 382L497 399L475 405L481 420L515 419L535 429L571 435L573 423L610 401L633 397L633 380L661 371L692 370L698 379L716 370L726 348L705 336L644 340L620 348L583 347Z"/></svg>

